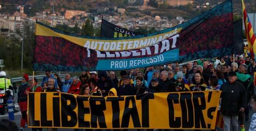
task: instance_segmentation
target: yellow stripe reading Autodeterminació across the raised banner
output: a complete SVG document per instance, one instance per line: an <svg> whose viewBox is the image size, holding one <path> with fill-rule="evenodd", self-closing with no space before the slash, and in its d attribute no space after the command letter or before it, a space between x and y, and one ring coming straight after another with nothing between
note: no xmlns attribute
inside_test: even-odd
<svg viewBox="0 0 256 131"><path fill-rule="evenodd" d="M100 39L97 39L97 37L91 37L93 39L86 39L86 38L80 38L80 37L73 37L70 35L64 35L64 34L54 32L53 30L47 27L44 27L43 25L36 24L35 35L41 35L41 36L47 36L47 37L61 37L63 39L73 42L74 44L78 44L93 50L119 51L119 50L131 50L131 49L134 50L134 49L149 47L150 45L156 44L165 39L175 39L173 41L176 43L176 37L179 36L178 33L180 33L181 30L182 30L182 27L179 29L171 30L170 32L166 32L163 34L153 35L153 36L143 37L138 39L129 39L128 37L125 37L122 40L114 40L114 38L111 38L109 40L100 40ZM172 44L173 43L170 43L170 45ZM172 45L172 48L174 47L176 46Z"/></svg>

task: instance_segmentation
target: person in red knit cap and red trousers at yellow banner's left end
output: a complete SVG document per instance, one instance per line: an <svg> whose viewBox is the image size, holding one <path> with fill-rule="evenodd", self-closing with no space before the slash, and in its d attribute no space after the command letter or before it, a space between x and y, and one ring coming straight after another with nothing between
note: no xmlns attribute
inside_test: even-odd
<svg viewBox="0 0 256 131"><path fill-rule="evenodd" d="M25 124L28 123L27 116L27 108L28 108L28 95L26 94L26 89L28 89L30 85L28 84L28 75L24 74L22 77L21 84L19 85L18 91L18 100L19 108L21 109L21 130L24 130Z"/></svg>

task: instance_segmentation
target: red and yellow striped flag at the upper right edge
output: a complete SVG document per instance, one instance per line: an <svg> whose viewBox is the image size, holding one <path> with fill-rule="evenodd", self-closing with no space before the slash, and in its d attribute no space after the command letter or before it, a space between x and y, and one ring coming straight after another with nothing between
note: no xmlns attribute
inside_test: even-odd
<svg viewBox="0 0 256 131"><path fill-rule="evenodd" d="M255 57L255 53L256 53L255 34L253 32L253 27L251 25L250 19L247 15L247 12L246 12L246 8L244 6L244 0L242 0L242 10L243 10L244 27L245 27L245 30L246 30L246 37L247 37L247 40L248 40L249 50L250 50L252 58L255 59L256 58ZM255 72L254 72L253 82L254 82L254 86L256 86L256 73Z"/></svg>

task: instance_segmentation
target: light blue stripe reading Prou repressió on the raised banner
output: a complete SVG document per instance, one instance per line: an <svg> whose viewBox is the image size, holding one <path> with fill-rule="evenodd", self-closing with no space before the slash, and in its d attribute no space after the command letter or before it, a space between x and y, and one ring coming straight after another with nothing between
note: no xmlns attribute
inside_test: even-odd
<svg viewBox="0 0 256 131"><path fill-rule="evenodd" d="M142 68L165 62L172 63L179 58L179 49L170 50L152 57L136 59L111 59L99 60L96 70L123 70L131 68Z"/></svg>

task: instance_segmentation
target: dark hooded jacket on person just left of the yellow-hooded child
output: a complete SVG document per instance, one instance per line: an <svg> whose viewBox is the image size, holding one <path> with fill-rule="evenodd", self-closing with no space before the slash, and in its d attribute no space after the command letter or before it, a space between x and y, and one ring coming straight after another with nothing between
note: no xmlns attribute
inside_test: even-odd
<svg viewBox="0 0 256 131"><path fill-rule="evenodd" d="M102 79L98 79L98 85L97 86L99 87L99 89L101 91L102 90L106 91L105 93L102 92L102 95L107 95L109 90L111 88L115 87L114 82L110 78L107 77L107 72L106 71L100 72L99 77L102 77L102 76L104 76L106 79L105 79L105 81L102 81Z"/></svg>

